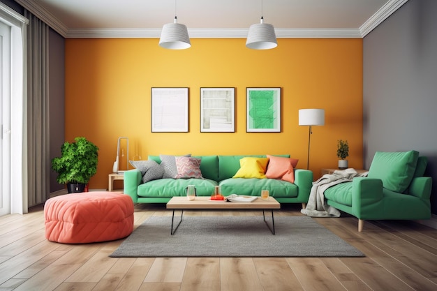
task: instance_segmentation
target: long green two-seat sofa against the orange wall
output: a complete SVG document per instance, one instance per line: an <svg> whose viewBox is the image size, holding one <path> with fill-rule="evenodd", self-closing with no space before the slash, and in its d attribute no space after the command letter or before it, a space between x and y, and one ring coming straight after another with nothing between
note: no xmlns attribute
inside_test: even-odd
<svg viewBox="0 0 437 291"><path fill-rule="evenodd" d="M289 155L281 155L290 157ZM186 187L194 185L198 196L210 196L217 185L227 196L260 195L268 190L269 195L280 203L302 203L305 207L313 182L313 172L295 169L295 182L281 179L232 178L240 168L240 159L244 157L265 158L261 155L246 156L193 156L200 158L200 170L203 179L155 179L142 183L142 173L133 169L124 172L124 193L132 197L135 203L166 203L173 196L186 195ZM149 156L148 160L161 163L159 156Z"/></svg>

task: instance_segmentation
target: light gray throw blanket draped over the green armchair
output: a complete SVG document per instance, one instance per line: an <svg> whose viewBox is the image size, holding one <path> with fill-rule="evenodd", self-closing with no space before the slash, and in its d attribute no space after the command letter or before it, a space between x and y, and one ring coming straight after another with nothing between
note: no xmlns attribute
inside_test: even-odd
<svg viewBox="0 0 437 291"><path fill-rule="evenodd" d="M358 174L353 168L336 170L332 174L324 174L323 177L313 182L309 193L308 204L302 209L302 214L314 217L339 217L340 211L328 205L325 200L325 190L331 186L352 181L354 177L365 177L367 172Z"/></svg>

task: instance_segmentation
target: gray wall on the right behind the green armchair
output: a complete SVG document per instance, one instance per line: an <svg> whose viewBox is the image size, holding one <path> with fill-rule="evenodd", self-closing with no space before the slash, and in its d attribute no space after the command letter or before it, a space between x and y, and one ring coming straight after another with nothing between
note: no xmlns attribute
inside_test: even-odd
<svg viewBox="0 0 437 291"><path fill-rule="evenodd" d="M376 151L429 158L437 214L437 1L410 0L364 38L364 167Z"/></svg>

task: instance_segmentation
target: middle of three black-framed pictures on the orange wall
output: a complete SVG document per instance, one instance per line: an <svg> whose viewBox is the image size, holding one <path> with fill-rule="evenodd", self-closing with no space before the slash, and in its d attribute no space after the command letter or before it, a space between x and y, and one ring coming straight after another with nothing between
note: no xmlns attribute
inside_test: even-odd
<svg viewBox="0 0 437 291"><path fill-rule="evenodd" d="M200 88L200 132L235 132L235 88Z"/></svg>

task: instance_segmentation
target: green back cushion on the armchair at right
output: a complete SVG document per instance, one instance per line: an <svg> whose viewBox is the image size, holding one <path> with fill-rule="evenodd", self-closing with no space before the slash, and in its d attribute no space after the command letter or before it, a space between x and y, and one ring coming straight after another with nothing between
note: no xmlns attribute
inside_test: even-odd
<svg viewBox="0 0 437 291"><path fill-rule="evenodd" d="M404 193L413 179L418 157L418 151L377 151L368 177L381 179L383 187L390 191Z"/></svg>

